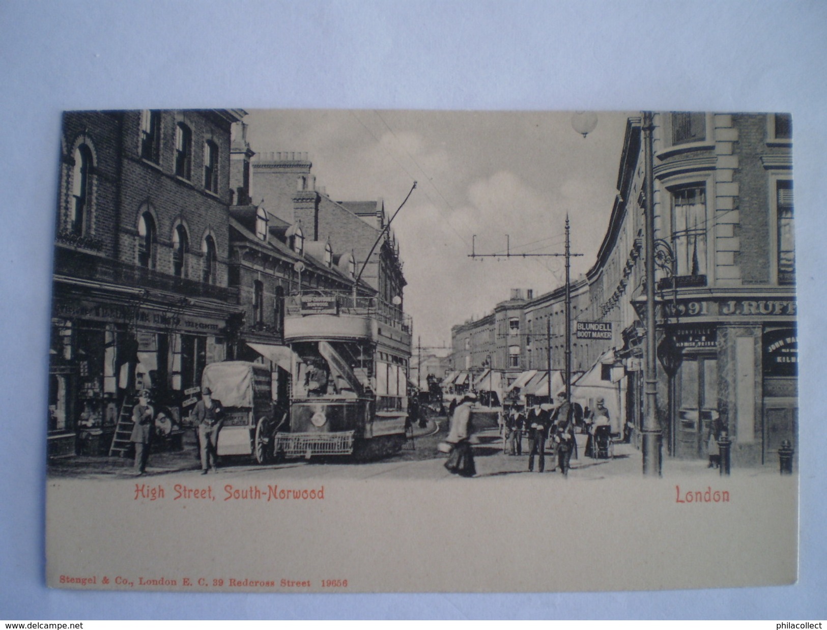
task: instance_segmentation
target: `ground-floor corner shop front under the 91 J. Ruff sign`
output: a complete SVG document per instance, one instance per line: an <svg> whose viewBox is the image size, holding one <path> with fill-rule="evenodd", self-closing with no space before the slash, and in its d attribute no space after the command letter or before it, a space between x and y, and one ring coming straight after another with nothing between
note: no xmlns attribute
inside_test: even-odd
<svg viewBox="0 0 827 630"><path fill-rule="evenodd" d="M738 294L662 308L658 394L668 453L706 459L725 432L733 466L777 465L782 442L797 440L795 299Z"/></svg>

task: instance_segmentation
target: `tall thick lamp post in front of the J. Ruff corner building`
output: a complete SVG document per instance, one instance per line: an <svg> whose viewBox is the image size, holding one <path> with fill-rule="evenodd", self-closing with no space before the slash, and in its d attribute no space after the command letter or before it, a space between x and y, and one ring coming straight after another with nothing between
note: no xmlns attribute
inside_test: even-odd
<svg viewBox="0 0 827 630"><path fill-rule="evenodd" d="M652 112L643 112L643 155L646 162L646 413L643 415L643 476L660 477L663 435L660 423L657 422L653 129Z"/></svg>

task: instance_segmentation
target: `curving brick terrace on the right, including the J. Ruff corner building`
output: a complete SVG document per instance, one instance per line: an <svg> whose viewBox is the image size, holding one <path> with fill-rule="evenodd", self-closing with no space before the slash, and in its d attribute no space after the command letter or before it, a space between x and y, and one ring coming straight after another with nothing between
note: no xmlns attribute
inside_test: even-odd
<svg viewBox="0 0 827 630"><path fill-rule="evenodd" d="M733 465L776 465L782 441L796 446L798 433L790 117L661 112L654 126L657 415L666 452L705 458L710 428L722 427ZM571 284L572 370L598 361L624 368L619 408L633 441L643 418L644 184L641 121L632 117L604 240L586 278ZM509 361L547 365L552 317L552 368L561 367L564 293L495 308L498 338L499 313L508 314L509 332L525 327L514 335L519 347L509 343ZM488 353L480 333L490 317L452 328L457 360L477 365ZM605 338L578 340L578 322L602 324ZM506 370L498 350L495 365ZM614 381L616 371L603 372Z"/></svg>

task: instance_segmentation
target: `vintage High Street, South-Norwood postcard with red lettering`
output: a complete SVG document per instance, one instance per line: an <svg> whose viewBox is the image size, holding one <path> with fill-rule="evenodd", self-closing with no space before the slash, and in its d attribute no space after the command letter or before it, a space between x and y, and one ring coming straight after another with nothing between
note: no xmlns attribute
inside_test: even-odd
<svg viewBox="0 0 827 630"><path fill-rule="evenodd" d="M792 121L65 112L47 581L784 585Z"/></svg>

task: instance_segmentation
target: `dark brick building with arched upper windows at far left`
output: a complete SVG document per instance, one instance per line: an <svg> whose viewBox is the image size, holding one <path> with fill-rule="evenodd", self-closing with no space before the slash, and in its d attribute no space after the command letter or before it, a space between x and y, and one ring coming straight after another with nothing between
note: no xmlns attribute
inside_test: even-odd
<svg viewBox="0 0 827 630"><path fill-rule="evenodd" d="M66 112L50 455L103 451L136 388L178 416L234 334L230 128L240 110Z"/></svg>

